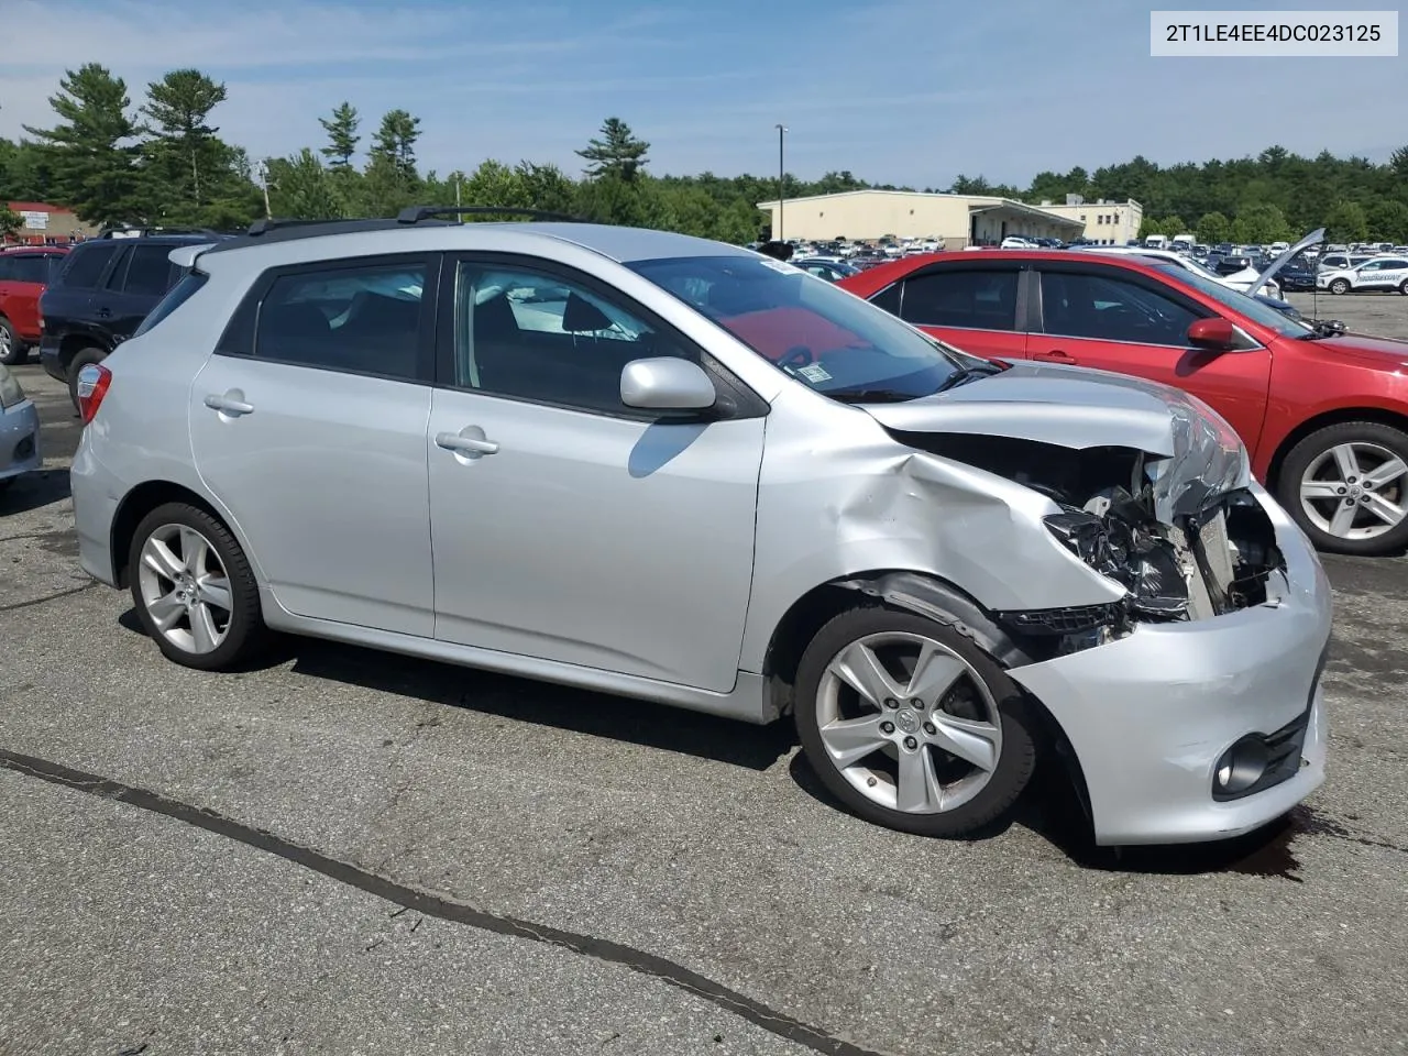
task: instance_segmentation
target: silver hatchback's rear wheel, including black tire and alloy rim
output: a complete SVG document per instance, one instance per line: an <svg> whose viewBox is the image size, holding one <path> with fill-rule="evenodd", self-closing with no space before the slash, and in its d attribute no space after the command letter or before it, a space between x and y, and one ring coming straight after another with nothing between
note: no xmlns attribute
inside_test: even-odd
<svg viewBox="0 0 1408 1056"><path fill-rule="evenodd" d="M166 659L224 670L263 646L249 560L204 510L187 503L152 510L137 525L127 567L137 617Z"/></svg>

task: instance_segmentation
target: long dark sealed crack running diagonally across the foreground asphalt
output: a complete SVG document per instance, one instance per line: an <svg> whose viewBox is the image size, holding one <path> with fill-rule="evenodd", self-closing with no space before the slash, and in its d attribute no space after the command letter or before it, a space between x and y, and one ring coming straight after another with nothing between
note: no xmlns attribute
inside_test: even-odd
<svg viewBox="0 0 1408 1056"><path fill-rule="evenodd" d="M82 590L87 590L87 587L82 587ZM620 964L642 976L656 979L672 987L700 997L727 1012L732 1012L734 1015L762 1026L765 1031L769 1031L779 1038L803 1045L812 1052L825 1053L826 1056L887 1056L887 1053L876 1049L865 1049L853 1042L845 1041L843 1038L826 1033L818 1026L796 1019L786 1012L769 1008L760 1001L745 997L736 990L729 990L728 987L715 983L697 972L691 972L683 964L656 956L655 953L646 953L645 950L639 950L620 942L611 942L610 939L598 939L591 935L563 931L562 928L553 928L546 924L535 924L515 917L476 910L463 903L451 901L449 898L431 894L429 891L408 887L383 876L377 876L376 873L359 869L348 862L329 857L311 848L283 839L282 836L277 836L266 829L242 825L234 818L206 807L194 807L148 788L137 788L100 774L73 770L68 766L62 766L61 763L37 759L34 756L21 755L3 748L0 748L0 769L11 770L41 781L48 781L49 784L56 784L72 791L97 796L104 800L115 800L117 803L125 803L127 805L137 807L138 810L175 818L176 821L186 822L187 825L194 825L196 828L206 829L207 832L214 832L220 836L245 843L256 850L277 855L287 862L293 862L297 866L320 873L329 880L337 880L338 883L355 887L377 898L393 903L394 905L401 907L403 911L415 910L425 917L435 917L452 924L463 924L470 928L493 932L496 935L529 939L532 942L541 942L546 946L558 946L572 953L603 960L608 964Z"/></svg>

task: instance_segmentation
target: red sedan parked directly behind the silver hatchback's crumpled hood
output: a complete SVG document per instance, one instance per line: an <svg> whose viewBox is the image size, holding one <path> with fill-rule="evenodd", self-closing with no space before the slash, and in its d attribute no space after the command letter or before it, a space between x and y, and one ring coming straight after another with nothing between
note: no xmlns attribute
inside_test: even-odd
<svg viewBox="0 0 1408 1056"><path fill-rule="evenodd" d="M1201 397L1316 546L1408 545L1408 341L1308 324L1131 256L910 256L838 286L964 352L1138 375Z"/></svg>

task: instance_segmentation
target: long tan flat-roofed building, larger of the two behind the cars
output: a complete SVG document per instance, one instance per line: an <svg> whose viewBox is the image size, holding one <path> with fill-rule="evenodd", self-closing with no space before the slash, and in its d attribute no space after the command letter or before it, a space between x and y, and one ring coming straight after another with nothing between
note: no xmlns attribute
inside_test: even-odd
<svg viewBox="0 0 1408 1056"><path fill-rule="evenodd" d="M781 203L760 201L773 238L942 239L948 249L997 244L1010 235L1060 238L1080 235L1084 224L1011 199L974 194L925 194L908 190L848 190Z"/></svg>

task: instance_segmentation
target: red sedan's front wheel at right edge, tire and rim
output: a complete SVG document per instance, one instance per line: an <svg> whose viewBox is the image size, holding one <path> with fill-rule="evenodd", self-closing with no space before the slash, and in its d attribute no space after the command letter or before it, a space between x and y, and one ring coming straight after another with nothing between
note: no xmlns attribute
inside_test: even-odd
<svg viewBox="0 0 1408 1056"><path fill-rule="evenodd" d="M1373 421L1316 429L1291 448L1276 490L1316 549L1401 551L1408 545L1408 432Z"/></svg>

